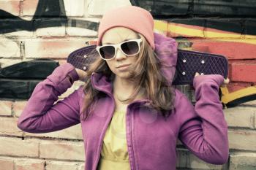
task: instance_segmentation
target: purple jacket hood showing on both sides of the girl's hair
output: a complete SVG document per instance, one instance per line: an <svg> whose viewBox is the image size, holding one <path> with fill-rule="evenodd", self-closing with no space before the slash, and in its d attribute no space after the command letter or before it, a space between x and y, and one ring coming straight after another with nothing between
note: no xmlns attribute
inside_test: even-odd
<svg viewBox="0 0 256 170"><path fill-rule="evenodd" d="M160 71L166 77L168 85L171 85L176 72L177 47L175 39L154 33L154 52L161 62ZM101 73L94 72L91 76L91 82L94 88L111 93L112 85L108 78Z"/></svg>

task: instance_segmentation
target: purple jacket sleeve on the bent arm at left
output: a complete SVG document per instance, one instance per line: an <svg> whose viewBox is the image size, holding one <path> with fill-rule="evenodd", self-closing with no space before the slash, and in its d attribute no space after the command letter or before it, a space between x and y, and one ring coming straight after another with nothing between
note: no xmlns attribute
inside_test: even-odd
<svg viewBox="0 0 256 170"><path fill-rule="evenodd" d="M39 82L18 118L18 128L39 134L59 131L80 123L79 89L62 101L53 104L58 100L58 96L72 86L75 80L78 80L75 67L70 63L64 63L45 80Z"/></svg>

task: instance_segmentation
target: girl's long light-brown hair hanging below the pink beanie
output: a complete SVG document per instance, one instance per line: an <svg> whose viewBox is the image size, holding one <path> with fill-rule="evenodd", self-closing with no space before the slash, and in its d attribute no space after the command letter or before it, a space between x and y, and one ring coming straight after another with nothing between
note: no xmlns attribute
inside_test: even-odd
<svg viewBox="0 0 256 170"><path fill-rule="evenodd" d="M136 62L137 64L130 72L130 79L135 80L133 82L136 83L136 88L134 93L122 102L129 104L134 101L136 96L138 96L138 93L143 91L143 94L146 94L147 98L151 100L151 107L157 109L163 116L167 117L170 115L170 111L174 109L174 88L170 83L168 83L168 80L166 80L162 72L160 72L161 66L165 63L159 62L159 57L154 53L154 50L148 44L145 37L141 34L138 35L143 40L143 43L140 45L140 53L138 54L138 61ZM94 55L99 55L98 53L93 53ZM163 53L172 52L165 51ZM100 95L102 95L91 85L91 79L89 77L91 77L93 72L100 72L110 80L113 80L113 77L115 77L108 67L108 64L102 60L102 58L97 57L96 61L91 63L89 71L87 71L88 78L83 86L83 91L85 93L82 109L83 120L89 117L91 110L96 103L95 101Z"/></svg>

